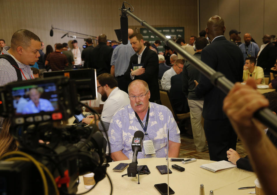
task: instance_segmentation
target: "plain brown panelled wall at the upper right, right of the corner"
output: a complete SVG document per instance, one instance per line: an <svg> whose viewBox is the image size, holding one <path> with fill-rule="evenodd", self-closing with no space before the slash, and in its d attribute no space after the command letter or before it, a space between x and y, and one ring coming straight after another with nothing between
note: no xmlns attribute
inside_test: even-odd
<svg viewBox="0 0 277 195"><path fill-rule="evenodd" d="M229 39L229 31L240 31L243 40L245 33L261 46L265 34L277 36L276 0L199 0L200 30L206 28L207 20L214 15L225 21L225 37Z"/></svg>

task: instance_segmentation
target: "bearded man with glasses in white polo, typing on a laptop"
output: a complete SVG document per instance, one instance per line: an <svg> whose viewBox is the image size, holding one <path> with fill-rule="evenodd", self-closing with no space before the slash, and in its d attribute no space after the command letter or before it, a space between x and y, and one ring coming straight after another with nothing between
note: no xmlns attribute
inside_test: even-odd
<svg viewBox="0 0 277 195"><path fill-rule="evenodd" d="M103 73L99 75L96 80L97 91L101 94L101 100L104 102L101 115L101 121L103 122L104 127L102 126L102 123L99 122L99 117L96 116L96 118L94 118L94 115L89 115L87 118L83 118L82 122L93 124L96 120L99 130L104 131L109 129L114 113L129 104L129 98L126 92L117 87L117 81L111 74ZM104 133L103 135L106 137Z"/></svg>

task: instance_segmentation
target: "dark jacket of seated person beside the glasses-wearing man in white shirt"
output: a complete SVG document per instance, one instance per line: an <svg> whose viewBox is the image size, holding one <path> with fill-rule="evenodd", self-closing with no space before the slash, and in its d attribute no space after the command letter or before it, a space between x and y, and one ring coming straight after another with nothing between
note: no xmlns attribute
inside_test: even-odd
<svg viewBox="0 0 277 195"><path fill-rule="evenodd" d="M182 91L182 73L171 77L171 88L169 91L169 99L172 107L177 114L187 113L190 111L188 100Z"/></svg>

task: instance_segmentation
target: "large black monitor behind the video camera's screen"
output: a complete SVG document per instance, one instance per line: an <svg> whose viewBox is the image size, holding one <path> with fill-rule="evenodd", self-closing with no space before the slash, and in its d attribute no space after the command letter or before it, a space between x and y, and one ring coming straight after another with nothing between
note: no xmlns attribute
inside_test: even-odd
<svg viewBox="0 0 277 195"><path fill-rule="evenodd" d="M44 77L65 76L75 80L77 93L80 100L97 99L96 70L78 69L44 72Z"/></svg>

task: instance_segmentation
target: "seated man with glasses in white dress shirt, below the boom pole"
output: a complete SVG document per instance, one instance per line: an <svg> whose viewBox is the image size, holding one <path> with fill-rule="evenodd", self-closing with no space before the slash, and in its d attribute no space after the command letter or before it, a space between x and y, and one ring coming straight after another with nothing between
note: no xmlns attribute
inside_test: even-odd
<svg viewBox="0 0 277 195"><path fill-rule="evenodd" d="M164 75L162 76L162 89L163 90L170 90L171 88L171 77L174 75L178 75L182 72L184 67L184 60L178 59L175 61L173 67L171 69L164 72Z"/></svg>

